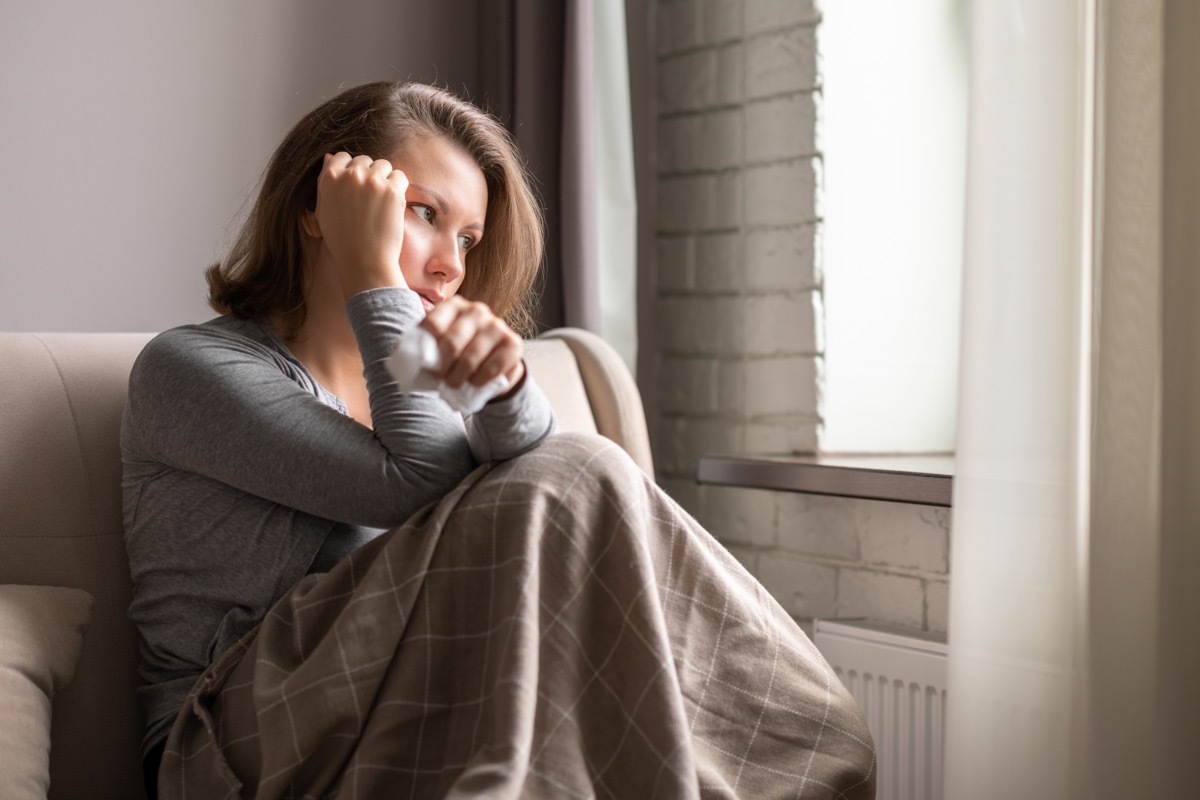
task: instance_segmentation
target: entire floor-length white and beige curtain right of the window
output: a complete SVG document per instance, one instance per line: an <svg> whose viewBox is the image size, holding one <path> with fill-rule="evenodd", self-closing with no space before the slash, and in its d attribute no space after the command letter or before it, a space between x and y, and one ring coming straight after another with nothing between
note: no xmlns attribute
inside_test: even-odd
<svg viewBox="0 0 1200 800"><path fill-rule="evenodd" d="M944 796L1195 796L1200 6L972 31Z"/></svg>

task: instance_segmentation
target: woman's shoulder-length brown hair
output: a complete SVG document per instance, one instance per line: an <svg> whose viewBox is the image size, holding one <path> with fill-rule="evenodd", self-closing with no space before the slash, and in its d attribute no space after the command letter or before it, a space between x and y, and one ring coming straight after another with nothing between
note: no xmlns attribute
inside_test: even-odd
<svg viewBox="0 0 1200 800"><path fill-rule="evenodd" d="M370 83L300 120L275 150L238 239L210 266L209 305L253 318L278 314L294 336L305 319L304 213L316 205L326 152L383 158L416 136L440 136L479 164L487 182L486 234L467 252L460 294L480 300L518 333L533 332L533 282L541 264L542 216L524 162L504 127L449 91Z"/></svg>

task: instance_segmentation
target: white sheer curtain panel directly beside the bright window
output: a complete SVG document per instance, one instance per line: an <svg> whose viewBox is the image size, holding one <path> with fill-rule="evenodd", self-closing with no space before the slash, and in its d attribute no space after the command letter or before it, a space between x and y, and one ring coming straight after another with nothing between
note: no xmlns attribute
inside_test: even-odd
<svg viewBox="0 0 1200 800"><path fill-rule="evenodd" d="M946 796L1069 798L1086 609L1086 2L977 0Z"/></svg>

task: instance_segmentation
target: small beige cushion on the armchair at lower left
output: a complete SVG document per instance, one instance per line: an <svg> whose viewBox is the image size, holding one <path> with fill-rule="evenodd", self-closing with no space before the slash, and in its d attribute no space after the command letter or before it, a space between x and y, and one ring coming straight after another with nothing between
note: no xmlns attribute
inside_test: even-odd
<svg viewBox="0 0 1200 800"><path fill-rule="evenodd" d="M92 597L82 589L0 585L0 787L44 800L50 708L74 674Z"/></svg>

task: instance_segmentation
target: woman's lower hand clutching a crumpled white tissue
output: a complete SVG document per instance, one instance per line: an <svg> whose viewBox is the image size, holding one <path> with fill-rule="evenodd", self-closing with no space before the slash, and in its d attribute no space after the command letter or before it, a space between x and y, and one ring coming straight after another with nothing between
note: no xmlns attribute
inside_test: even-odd
<svg viewBox="0 0 1200 800"><path fill-rule="evenodd" d="M524 342L486 303L448 297L425 315L421 327L437 339L439 377L454 389L464 383L482 386L497 375L516 386L524 377Z"/></svg>

